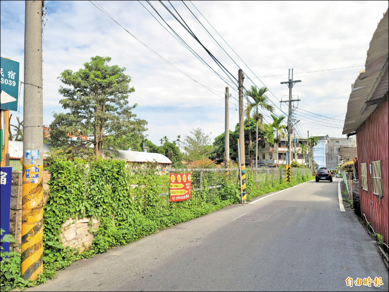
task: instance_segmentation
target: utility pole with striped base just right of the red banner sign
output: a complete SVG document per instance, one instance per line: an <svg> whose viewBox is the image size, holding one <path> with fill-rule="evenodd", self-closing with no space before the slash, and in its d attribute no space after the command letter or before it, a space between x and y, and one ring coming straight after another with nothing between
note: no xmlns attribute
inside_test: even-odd
<svg viewBox="0 0 389 292"><path fill-rule="evenodd" d="M242 173L242 197L243 203L246 202L246 159L245 159L245 128L244 128L244 114L243 114L243 79L244 74L242 69L238 70L238 93L239 93L239 150L240 163Z"/></svg>

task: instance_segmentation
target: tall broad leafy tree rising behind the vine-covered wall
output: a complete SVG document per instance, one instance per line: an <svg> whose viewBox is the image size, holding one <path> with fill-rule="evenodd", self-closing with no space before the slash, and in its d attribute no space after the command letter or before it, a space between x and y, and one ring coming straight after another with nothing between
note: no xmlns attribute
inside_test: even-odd
<svg viewBox="0 0 389 292"><path fill-rule="evenodd" d="M69 142L69 132L79 138L93 135L94 153L101 156L104 138L142 133L147 130L147 122L132 112L136 103L128 105L128 96L135 89L129 86L131 77L124 74L125 67L109 66L110 57L95 56L90 60L83 69L65 70L58 77L69 86L60 86L59 93L64 98L59 102L70 112L54 113L51 139L53 146L63 146ZM84 139L78 142L90 143Z"/></svg>

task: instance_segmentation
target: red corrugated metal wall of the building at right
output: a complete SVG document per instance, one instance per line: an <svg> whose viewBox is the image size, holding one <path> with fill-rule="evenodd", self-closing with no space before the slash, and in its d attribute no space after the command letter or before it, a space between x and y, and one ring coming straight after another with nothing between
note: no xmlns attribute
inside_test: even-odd
<svg viewBox="0 0 389 292"><path fill-rule="evenodd" d="M388 93L387 93L388 97ZM388 220L389 220L389 200L388 200L388 98L380 104L366 119L366 121L356 131L356 143L358 151L358 166L367 163L368 191L362 190L359 171L359 194L361 200L361 214L365 214L376 233L384 237L384 242L388 243ZM373 194L372 178L369 165L372 161L381 160L383 197L380 199ZM362 218L364 216L362 215Z"/></svg>

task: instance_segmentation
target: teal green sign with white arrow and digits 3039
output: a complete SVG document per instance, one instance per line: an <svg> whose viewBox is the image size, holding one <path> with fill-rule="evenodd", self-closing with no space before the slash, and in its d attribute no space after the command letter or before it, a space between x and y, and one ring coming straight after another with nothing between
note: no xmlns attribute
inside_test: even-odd
<svg viewBox="0 0 389 292"><path fill-rule="evenodd" d="M1 110L18 110L19 62L1 57Z"/></svg>

